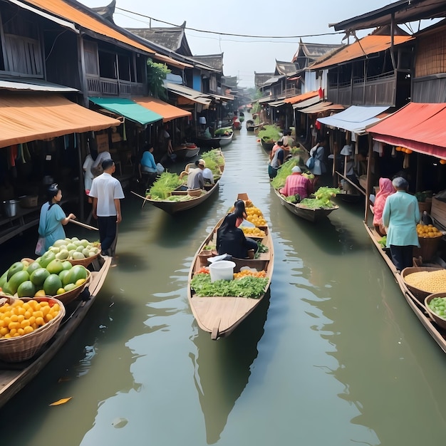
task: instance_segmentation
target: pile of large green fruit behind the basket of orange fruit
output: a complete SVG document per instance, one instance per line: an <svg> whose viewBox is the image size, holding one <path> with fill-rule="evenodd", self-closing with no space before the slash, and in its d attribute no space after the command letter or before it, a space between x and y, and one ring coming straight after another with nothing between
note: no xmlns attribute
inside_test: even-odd
<svg viewBox="0 0 446 446"><path fill-rule="evenodd" d="M0 288L5 294L21 297L60 296L68 292L81 293L90 276L83 265L72 265L68 260L56 259L53 251L46 251L35 261L16 261L0 277ZM74 291L76 290L76 291Z"/></svg>

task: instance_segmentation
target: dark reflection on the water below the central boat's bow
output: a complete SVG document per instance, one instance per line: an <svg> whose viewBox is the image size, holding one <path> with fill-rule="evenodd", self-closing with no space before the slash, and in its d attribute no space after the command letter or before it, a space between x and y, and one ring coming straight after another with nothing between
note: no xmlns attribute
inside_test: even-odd
<svg viewBox="0 0 446 446"><path fill-rule="evenodd" d="M249 318L232 336L215 343L199 330L192 341L197 356L192 356L199 403L206 425L208 445L219 441L235 402L249 383L251 365L257 357L257 343L264 333L269 292Z"/></svg>

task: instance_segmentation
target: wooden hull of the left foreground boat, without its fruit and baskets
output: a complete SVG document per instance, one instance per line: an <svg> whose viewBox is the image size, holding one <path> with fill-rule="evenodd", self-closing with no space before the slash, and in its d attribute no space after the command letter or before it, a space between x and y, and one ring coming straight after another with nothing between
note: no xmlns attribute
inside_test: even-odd
<svg viewBox="0 0 446 446"><path fill-rule="evenodd" d="M93 261L93 264L90 266L92 278L88 285L89 299L76 299L66 306L66 316L61 326L53 338L42 346L36 356L21 363L0 361L0 407L16 395L19 390L24 388L51 361L53 356L56 355L73 331L83 321L104 284L111 261L111 257L101 256ZM83 295L81 294L81 296Z"/></svg>

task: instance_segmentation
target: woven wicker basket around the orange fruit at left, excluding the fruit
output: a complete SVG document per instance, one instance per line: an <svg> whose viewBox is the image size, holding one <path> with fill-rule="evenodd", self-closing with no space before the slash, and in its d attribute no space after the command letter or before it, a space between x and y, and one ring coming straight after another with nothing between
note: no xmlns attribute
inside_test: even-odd
<svg viewBox="0 0 446 446"><path fill-rule="evenodd" d="M63 316L65 316L65 307L62 302L52 297L36 297L36 301L51 300L55 304L61 306L61 311L53 320L47 322L45 325L37 328L31 333L28 333L17 338L0 339L0 359L8 363L19 363L32 358L44 343L49 341L58 331ZM8 298L9 303L19 299ZM24 301L29 301L31 298L23 298Z"/></svg>

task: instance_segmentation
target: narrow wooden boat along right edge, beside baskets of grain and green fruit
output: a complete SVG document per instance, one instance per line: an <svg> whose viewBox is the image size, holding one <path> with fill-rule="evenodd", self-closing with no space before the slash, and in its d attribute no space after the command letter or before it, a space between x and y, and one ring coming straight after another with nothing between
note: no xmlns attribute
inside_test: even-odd
<svg viewBox="0 0 446 446"><path fill-rule="evenodd" d="M370 239L372 239L372 242L375 245L376 249L378 249L378 252L383 257L385 264L387 264L388 267L390 268L390 271L392 271L392 274L395 277L395 280L397 281L398 285L400 286L401 292L403 293L403 296L405 297L405 300L409 304L410 308L412 308L413 312L418 317L422 325L426 328L430 336L432 336L432 338L435 339L440 348L442 348L442 351L446 353L445 328L441 328L440 326L438 326L437 323L432 321L430 316L428 316L424 302L421 302L419 299L417 299L417 297L415 297L413 292L410 291L410 289L408 289L408 286L406 286L403 276L401 276L400 272L395 268L392 259L390 259L390 252L387 249L381 247L379 243L379 240L381 239L380 235L378 235L378 233L375 232L375 229L368 227L366 223L364 224L365 224L365 229L368 232L368 235L370 236Z"/></svg>

